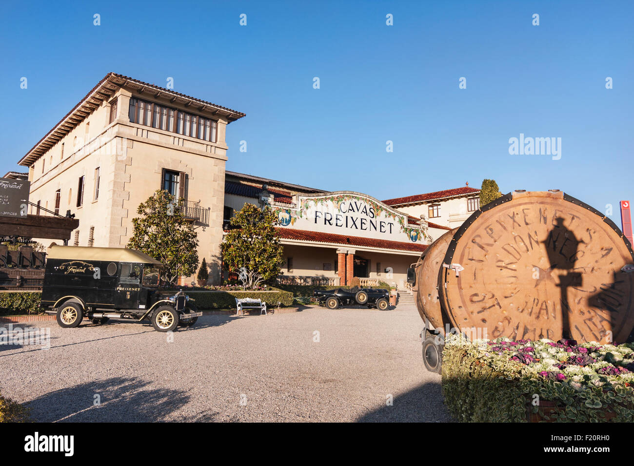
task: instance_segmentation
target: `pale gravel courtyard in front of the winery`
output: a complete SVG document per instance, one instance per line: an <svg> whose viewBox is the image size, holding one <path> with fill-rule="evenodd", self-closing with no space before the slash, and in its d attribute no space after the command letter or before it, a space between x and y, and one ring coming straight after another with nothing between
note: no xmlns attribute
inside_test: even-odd
<svg viewBox="0 0 634 466"><path fill-rule="evenodd" d="M51 349L1 345L0 393L38 421L450 420L414 306L204 316L173 342L148 323L31 325Z"/></svg>

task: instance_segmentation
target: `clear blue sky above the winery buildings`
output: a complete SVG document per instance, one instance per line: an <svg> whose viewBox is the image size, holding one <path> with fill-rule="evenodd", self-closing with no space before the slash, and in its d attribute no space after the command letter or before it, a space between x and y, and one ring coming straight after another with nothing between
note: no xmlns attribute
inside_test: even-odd
<svg viewBox="0 0 634 466"><path fill-rule="evenodd" d="M632 1L5 3L2 162L24 171L16 161L107 72L172 77L247 113L227 127L231 171L379 199L493 178L612 204L620 226L633 23ZM561 138L560 159L510 155L521 133Z"/></svg>

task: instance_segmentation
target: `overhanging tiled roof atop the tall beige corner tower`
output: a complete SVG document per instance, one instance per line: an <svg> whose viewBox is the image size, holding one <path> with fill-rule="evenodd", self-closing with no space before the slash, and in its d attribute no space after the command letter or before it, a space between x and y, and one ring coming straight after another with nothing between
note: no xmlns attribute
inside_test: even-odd
<svg viewBox="0 0 634 466"><path fill-rule="evenodd" d="M110 72L100 82L96 84L82 100L73 107L64 117L40 139L36 145L34 145L27 154L20 159L18 165L30 166L33 164L42 153L46 152L49 148L60 141L63 136L70 133L70 131L77 126L84 118L87 117L95 108L101 105L104 100L110 99L110 97L117 91L117 87L130 86L138 89L139 91L146 91L152 89L155 91L155 96L159 94L173 96L174 100L180 99L184 103L197 103L202 105L201 108L210 107L215 109L218 113L226 114L229 122L235 121L245 116L245 113L231 110L231 108L222 107L215 103L200 100L194 97L187 96L185 94L178 93L172 89L165 89L165 87L155 86L148 82L139 81L131 77L124 76Z"/></svg>

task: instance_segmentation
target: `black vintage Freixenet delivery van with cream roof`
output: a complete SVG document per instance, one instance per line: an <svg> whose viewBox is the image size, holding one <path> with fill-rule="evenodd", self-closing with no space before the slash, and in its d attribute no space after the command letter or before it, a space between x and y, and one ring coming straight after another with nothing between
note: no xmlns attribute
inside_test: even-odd
<svg viewBox="0 0 634 466"><path fill-rule="evenodd" d="M202 313L182 290L157 289L163 265L134 249L51 246L46 257L42 307L60 327L149 320L159 332L191 327Z"/></svg>

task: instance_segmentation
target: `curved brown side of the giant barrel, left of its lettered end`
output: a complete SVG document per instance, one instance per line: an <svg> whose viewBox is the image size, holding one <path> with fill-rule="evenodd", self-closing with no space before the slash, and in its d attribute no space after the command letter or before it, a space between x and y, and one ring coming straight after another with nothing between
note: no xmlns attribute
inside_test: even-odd
<svg viewBox="0 0 634 466"><path fill-rule="evenodd" d="M431 243L420 255L416 268L416 307L420 317L429 320L434 328L444 329L448 318L443 319L440 301L438 301L438 269L443 265L447 247L458 228L447 231L443 236Z"/></svg>

